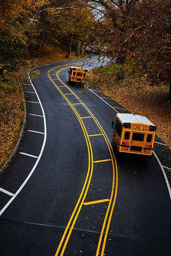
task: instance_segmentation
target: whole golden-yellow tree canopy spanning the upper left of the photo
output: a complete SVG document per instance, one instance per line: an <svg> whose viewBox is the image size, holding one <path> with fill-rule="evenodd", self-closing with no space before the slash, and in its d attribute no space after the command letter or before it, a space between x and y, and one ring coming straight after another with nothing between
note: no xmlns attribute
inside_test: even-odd
<svg viewBox="0 0 171 256"><path fill-rule="evenodd" d="M22 56L44 44L73 46L85 41L92 26L91 13L80 1L73 0L0 0L1 70L22 64Z"/></svg>

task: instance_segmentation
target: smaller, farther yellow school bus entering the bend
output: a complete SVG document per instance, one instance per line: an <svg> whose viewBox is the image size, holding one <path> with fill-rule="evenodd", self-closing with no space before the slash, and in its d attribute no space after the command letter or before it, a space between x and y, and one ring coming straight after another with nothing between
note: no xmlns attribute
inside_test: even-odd
<svg viewBox="0 0 171 256"><path fill-rule="evenodd" d="M77 82L84 84L86 82L88 70L78 68L78 67L70 67L69 73L69 82Z"/></svg>

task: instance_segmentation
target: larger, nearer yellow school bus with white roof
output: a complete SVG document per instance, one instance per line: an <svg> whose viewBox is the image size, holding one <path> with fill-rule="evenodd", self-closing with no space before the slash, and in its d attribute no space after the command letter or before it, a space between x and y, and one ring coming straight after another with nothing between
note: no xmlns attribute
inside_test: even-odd
<svg viewBox="0 0 171 256"><path fill-rule="evenodd" d="M151 158L156 126L146 117L119 113L111 126L116 155L132 153Z"/></svg>

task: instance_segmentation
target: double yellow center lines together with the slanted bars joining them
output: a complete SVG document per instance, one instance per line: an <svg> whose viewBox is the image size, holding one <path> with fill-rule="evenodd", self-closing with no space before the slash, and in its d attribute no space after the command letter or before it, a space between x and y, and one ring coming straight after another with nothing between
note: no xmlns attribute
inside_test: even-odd
<svg viewBox="0 0 171 256"><path fill-rule="evenodd" d="M81 64L79 64L79 65L81 65ZM72 66L72 65L70 64L70 66ZM57 86L55 84L55 82L54 82L54 79L52 79L50 77L50 71L52 71L52 70L54 70L56 68L60 68L60 67L62 67L62 66L55 67L55 68L49 70L48 71L48 77L51 80L51 82L54 84L54 86L59 90L59 92L66 99L66 101L68 102L70 107L73 109L74 113L76 114L76 116L77 116L77 118L78 118L78 120L80 122L81 128L82 128L84 136L85 136L85 140L86 140L86 143L87 143L88 171L87 171L87 176L86 176L86 179L85 179L85 182L84 182L81 194L79 196L79 199L77 201L77 204L75 206L73 214L72 214L72 216L71 216L71 218L69 220L69 223L68 223L68 225L67 225L67 227L65 229L65 232L64 232L63 237L62 237L62 239L60 241L60 244L59 244L58 249L57 249L57 251L55 253L55 256L57 256L59 254L62 256L64 254L64 251L66 249L68 240L69 240L69 238L71 236L72 230L74 228L74 225L76 223L76 220L78 218L78 215L79 215L79 213L81 211L81 208L82 208L83 204L86 206L86 205L89 205L89 204L94 204L94 203L100 203L100 202L108 201L109 203L108 203L106 215L105 215L105 218L104 218L104 222L103 222L103 226L102 226L102 229L101 229L100 238L99 238L99 242L98 242L97 250L96 250L96 256L99 255L99 251L100 250L101 250L101 255L103 255L104 254L105 243L106 243L106 238L107 238L107 234L108 234L108 229L109 229L109 225L110 225L110 221L111 221L111 216L112 216L113 208L115 206L115 201L116 201L116 197L117 197L117 190L118 190L118 169L117 169L117 163L116 163L115 155L113 153L112 146L111 146L111 144L110 144L110 142L109 142L109 140L108 140L108 138L107 138L107 136L106 136L106 134L105 134L105 132L104 132L104 130L102 128L102 126L99 124L99 122L94 117L94 115L91 113L91 111L87 108L87 106L83 103L83 101L80 100L80 98L70 89L70 87L68 87L59 78L59 72L61 72L64 69L67 69L68 67L65 66L65 68L62 68L61 70L56 72L56 77L63 84L63 86ZM68 88L70 93L63 93L61 91L61 89L60 89L61 87ZM76 104L72 104L70 102L70 100L67 98L67 95L69 95L69 94L73 94L79 100L79 102L76 103ZM78 114L78 112L74 108L74 105L78 105L78 104L82 105L87 110L87 112L88 112L88 116L87 117L82 117L82 118L80 117L80 115ZM84 125L83 120L82 120L84 118L93 118L93 120L97 124L98 128L100 129L101 133L100 134L88 135L87 130L86 130L85 125ZM91 146L91 142L90 142L89 137L91 137L91 136L100 136L100 135L104 137L104 139L105 139L105 141L107 143L111 159L93 161L93 152L92 152L92 146ZM107 199L91 201L91 202L85 202L85 197L87 195L88 188L89 188L89 185L90 185L90 181L91 181L91 178L92 178L93 164L94 163L99 163L99 162L106 162L106 161L111 161L112 162L112 168L113 168L113 180L112 180L112 188L111 188L110 198L109 199L107 198ZM116 170L115 170L115 167L116 167ZM103 242L102 242L102 240L103 240Z"/></svg>

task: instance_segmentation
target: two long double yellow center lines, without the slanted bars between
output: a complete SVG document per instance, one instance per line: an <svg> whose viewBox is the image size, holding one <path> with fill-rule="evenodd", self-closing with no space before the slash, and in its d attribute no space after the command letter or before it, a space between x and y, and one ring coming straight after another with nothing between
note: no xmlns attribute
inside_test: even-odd
<svg viewBox="0 0 171 256"><path fill-rule="evenodd" d="M65 68L64 68L65 69ZM64 70L62 69L62 70ZM60 70L59 72L61 72L62 70ZM52 81L50 75L49 75L49 72L48 71L48 76L50 78L50 80ZM59 73L58 72L58 73ZM56 74L56 76L59 78L58 76L58 73ZM65 84L60 78L59 80L61 81L61 83ZM73 109L73 111L75 112L75 114L77 115L78 119L79 119L79 122L82 126L82 129L83 129L83 132L85 134L85 138L86 138L86 141L88 142L87 143L87 147L88 147L88 154L89 154L89 166L88 166L88 173L87 173L87 177L86 177L86 181L84 183L84 187L83 187L83 190L80 194L80 197L79 197L79 200L77 202L77 205L74 209L74 212L69 220L69 223L65 229L65 232L63 234L63 237L61 239L61 242L58 246L58 249L55 253L55 256L60 255L62 256L64 254L64 251L65 251L65 248L67 246L67 243L70 239L70 236L71 236L71 233L72 233L72 230L74 228L74 225L75 225L75 222L78 218L78 215L81 211L81 208L82 208L82 205L83 205L83 202L84 202L84 199L86 197L86 194L87 194L87 191L88 191L88 187L89 187L89 184L90 184L90 181L91 181L91 177L92 177L92 171L93 171L93 156L92 156L92 147L91 147L91 142L89 141L89 136L87 134L87 131L86 131L86 128L84 126L84 123L82 122L82 119L81 117L79 116L79 114L77 113L77 111L74 109L74 106L71 104L71 102L69 101L69 99L65 96L65 94L60 90L60 88L54 83L54 81L52 81L54 86L60 91L60 93L65 97L65 99L67 100L67 102L69 103L69 105L71 106L71 108ZM66 85L66 84L65 84ZM67 85L66 87L71 91L73 92ZM73 92L73 95L76 96L76 98L78 100L79 97ZM73 101L74 102L74 101ZM80 102L82 102L80 100ZM113 166L113 179L112 179L112 189L111 189L111 195L110 195L110 200L108 202L108 207L107 207L107 211L106 211L106 214L105 214L105 219L104 219L104 222L103 222L103 226L102 226L102 230L101 230L101 233L100 233L100 239L99 239L99 242L98 242L98 247L97 247L97 252L96 252L96 255L100 254L99 253L99 250L100 250L100 246L101 246L101 242L103 242L102 244L102 253L101 255L103 255L103 251L104 251L104 247L105 247L105 243L106 243L106 237L107 237L107 234L108 234L108 229L109 229L109 225L110 225L110 221L111 221L111 216L112 216L112 212L113 212L113 208L115 206L115 202L116 202L116 196L117 196L117 190L118 190L118 169L117 169L117 163L116 163L116 159L115 159L115 155L113 153L113 150L112 150L112 147L111 147L111 144L110 144L110 141L109 139L107 138L102 126L98 123L97 119L93 116L93 114L90 112L90 110L86 107L86 105L82 102L82 105L84 106L84 108L88 111L88 113L92 116L92 118L94 119L95 123L97 124L97 126L99 127L100 131L102 132L103 136L104 136L104 139L107 143L107 146L108 146L108 149L109 149L109 152L110 152L110 155L111 155L111 161L112 161L112 166ZM90 157L91 156L91 157ZM114 167L114 161L115 161L115 165L116 165L116 179L115 179L115 167ZM91 172L90 172L91 171ZM89 173L90 172L90 173ZM79 206L79 203L80 203L80 206ZM109 217L108 217L109 215ZM74 217L75 216L75 217ZM107 219L108 218L108 219ZM107 221L108 220L108 221ZM104 239L104 241L102 241L102 238ZM62 250L60 252L60 250Z"/></svg>

